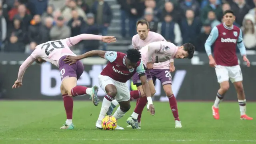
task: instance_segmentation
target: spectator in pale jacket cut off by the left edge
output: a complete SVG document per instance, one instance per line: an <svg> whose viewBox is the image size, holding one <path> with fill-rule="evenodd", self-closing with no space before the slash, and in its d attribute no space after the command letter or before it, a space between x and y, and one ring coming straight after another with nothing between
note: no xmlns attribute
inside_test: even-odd
<svg viewBox="0 0 256 144"><path fill-rule="evenodd" d="M0 4L0 51L1 51L1 46L6 39L7 36L7 22L2 15L2 4Z"/></svg>

